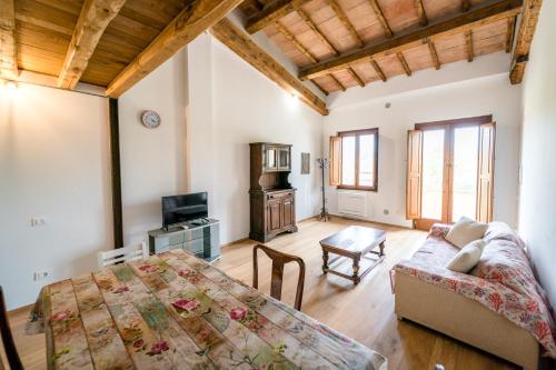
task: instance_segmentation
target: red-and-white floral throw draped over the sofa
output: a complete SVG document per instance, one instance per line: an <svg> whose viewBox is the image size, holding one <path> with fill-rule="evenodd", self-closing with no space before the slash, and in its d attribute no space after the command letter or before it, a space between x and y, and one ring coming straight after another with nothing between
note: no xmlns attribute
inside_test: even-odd
<svg viewBox="0 0 556 370"><path fill-rule="evenodd" d="M544 354L556 358L556 330L549 306L517 234L494 222L485 234L488 243L478 266L466 274L445 269L458 251L444 239L448 230L448 226L435 224L425 244L394 270L486 306L529 331L542 344Z"/></svg>

